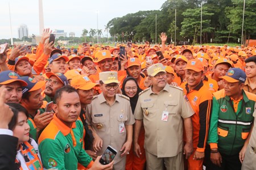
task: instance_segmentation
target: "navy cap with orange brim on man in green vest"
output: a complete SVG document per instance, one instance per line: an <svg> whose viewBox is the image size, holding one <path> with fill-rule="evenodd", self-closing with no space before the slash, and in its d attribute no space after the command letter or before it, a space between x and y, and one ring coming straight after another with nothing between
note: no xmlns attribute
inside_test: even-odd
<svg viewBox="0 0 256 170"><path fill-rule="evenodd" d="M221 76L220 78L226 80L229 83L242 82L245 83L246 74L245 71L239 68L232 68L226 73L226 75Z"/></svg>

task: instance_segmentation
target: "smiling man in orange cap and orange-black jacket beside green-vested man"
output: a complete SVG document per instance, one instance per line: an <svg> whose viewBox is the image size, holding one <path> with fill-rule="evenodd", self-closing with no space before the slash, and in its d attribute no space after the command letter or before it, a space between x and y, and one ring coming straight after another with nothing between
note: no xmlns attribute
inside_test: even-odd
<svg viewBox="0 0 256 170"><path fill-rule="evenodd" d="M212 94L203 84L204 65L199 59L189 60L184 70L187 83L182 84L181 88L195 112L192 116L193 154L188 158L188 169L200 170L203 169L204 151L207 145Z"/></svg>

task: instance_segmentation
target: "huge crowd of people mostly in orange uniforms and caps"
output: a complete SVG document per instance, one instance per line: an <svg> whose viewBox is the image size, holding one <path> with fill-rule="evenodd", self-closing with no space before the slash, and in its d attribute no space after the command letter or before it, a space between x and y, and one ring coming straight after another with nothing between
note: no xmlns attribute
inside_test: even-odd
<svg viewBox="0 0 256 170"><path fill-rule="evenodd" d="M0 54L0 169L256 169L255 46L161 33L66 49L50 34Z"/></svg>

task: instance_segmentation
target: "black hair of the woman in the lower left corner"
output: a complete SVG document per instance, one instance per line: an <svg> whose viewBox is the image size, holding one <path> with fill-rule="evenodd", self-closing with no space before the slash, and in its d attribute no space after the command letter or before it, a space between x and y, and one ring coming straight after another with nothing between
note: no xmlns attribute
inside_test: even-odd
<svg viewBox="0 0 256 170"><path fill-rule="evenodd" d="M14 130L18 120L18 113L23 112L28 117L28 112L27 112L27 109L25 109L22 105L18 103L6 103L6 104L9 105L11 111L13 111L13 118L11 118L11 121L8 124L8 128L10 130Z"/></svg>

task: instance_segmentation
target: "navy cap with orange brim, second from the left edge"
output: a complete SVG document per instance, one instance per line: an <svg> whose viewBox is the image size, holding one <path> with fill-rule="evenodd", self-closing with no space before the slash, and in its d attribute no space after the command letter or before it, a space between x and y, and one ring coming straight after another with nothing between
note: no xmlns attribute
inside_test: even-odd
<svg viewBox="0 0 256 170"><path fill-rule="evenodd" d="M39 90L46 84L46 81L37 82L35 79L31 78L30 76L22 76L22 78L20 79L24 80L27 83L27 86L22 87L22 94Z"/></svg>

